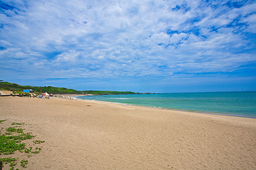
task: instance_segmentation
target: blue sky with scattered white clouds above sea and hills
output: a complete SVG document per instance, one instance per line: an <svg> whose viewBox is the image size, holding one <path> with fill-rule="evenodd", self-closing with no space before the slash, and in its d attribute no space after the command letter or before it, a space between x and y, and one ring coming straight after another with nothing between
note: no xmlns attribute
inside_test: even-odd
<svg viewBox="0 0 256 170"><path fill-rule="evenodd" d="M256 1L0 0L0 79L80 91L256 91Z"/></svg>

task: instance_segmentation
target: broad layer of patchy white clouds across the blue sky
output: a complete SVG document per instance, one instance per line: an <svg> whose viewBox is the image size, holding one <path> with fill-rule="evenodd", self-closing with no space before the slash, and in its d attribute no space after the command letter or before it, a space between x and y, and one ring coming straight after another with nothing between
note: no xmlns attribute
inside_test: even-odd
<svg viewBox="0 0 256 170"><path fill-rule="evenodd" d="M255 62L255 50L246 48L255 48L250 34L256 30L251 14L256 6L230 8L227 2L6 2L14 8L0 12L0 59L10 65L15 58L30 59L23 72L38 77L49 64L54 66L47 75L59 78L159 79L234 71L249 62L241 54Z"/></svg>

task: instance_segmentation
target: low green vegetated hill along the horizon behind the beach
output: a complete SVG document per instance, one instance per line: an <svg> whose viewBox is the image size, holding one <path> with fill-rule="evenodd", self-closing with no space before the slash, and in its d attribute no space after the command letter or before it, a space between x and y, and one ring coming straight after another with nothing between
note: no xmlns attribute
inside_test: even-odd
<svg viewBox="0 0 256 170"><path fill-rule="evenodd" d="M94 95L108 95L108 94L140 94L131 91L76 91L68 88L56 88L52 86L30 86L30 85L18 85L10 82L0 82L0 90L6 91L23 91L26 89L32 89L35 92L41 92L48 94L94 94Z"/></svg>

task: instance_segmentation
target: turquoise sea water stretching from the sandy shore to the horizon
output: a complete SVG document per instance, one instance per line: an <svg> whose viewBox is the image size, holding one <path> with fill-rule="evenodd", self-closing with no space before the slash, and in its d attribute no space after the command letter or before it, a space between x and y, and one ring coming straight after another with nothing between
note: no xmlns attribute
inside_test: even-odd
<svg viewBox="0 0 256 170"><path fill-rule="evenodd" d="M79 96L80 99L256 118L256 91Z"/></svg>

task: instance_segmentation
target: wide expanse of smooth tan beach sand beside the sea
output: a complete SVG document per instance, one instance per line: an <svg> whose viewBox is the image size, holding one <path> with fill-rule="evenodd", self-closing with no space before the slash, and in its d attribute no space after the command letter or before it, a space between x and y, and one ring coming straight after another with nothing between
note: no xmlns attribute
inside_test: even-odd
<svg viewBox="0 0 256 170"><path fill-rule="evenodd" d="M0 96L4 119L0 128L24 122L24 132L36 135L25 141L27 147L42 147L30 158L19 151L0 155L28 160L26 170L256 169L256 119L251 118Z"/></svg>

